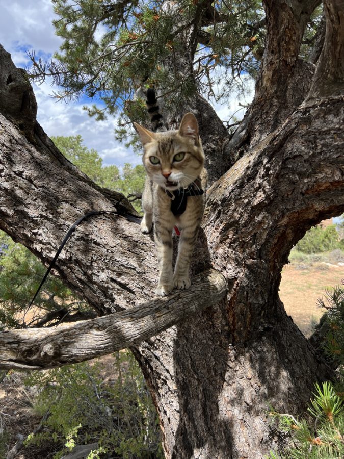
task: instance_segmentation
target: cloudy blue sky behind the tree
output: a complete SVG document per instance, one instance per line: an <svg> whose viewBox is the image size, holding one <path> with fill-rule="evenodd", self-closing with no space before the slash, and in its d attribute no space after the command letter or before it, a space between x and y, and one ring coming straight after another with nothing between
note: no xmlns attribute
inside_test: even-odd
<svg viewBox="0 0 344 459"><path fill-rule="evenodd" d="M11 53L17 67L30 65L28 50L34 50L42 59L49 59L59 50L62 39L55 35L52 25L56 17L50 0L0 0L0 43ZM98 151L103 165L116 164L121 168L125 163L141 164L137 153L115 140L114 117L95 121L83 110L82 107L91 106L92 101L79 100L68 104L57 101L52 97L55 88L48 81L34 84L33 88L38 103L37 120L49 137L80 134L86 147ZM221 119L229 119L230 114L240 109L239 100L233 97L229 104L217 104L215 109Z"/></svg>

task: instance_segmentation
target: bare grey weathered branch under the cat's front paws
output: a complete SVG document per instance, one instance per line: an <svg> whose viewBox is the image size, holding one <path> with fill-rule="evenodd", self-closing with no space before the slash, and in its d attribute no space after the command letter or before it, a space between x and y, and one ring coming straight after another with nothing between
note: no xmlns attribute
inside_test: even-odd
<svg viewBox="0 0 344 459"><path fill-rule="evenodd" d="M90 360L140 343L226 295L218 271L197 275L188 290L74 325L0 333L0 368L42 370Z"/></svg>

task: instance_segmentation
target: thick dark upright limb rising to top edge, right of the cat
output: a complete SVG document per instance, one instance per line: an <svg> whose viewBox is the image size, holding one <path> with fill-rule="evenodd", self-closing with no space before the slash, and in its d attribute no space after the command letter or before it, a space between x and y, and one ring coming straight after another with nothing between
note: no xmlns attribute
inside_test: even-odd
<svg viewBox="0 0 344 459"><path fill-rule="evenodd" d="M266 44L254 100L226 146L229 165L273 132L310 89L314 66L299 59L307 22L320 0L264 0Z"/></svg>

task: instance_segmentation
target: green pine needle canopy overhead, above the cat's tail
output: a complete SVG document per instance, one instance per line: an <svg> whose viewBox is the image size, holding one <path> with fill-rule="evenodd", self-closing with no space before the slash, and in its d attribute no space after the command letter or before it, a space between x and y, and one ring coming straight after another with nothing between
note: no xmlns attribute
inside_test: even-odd
<svg viewBox="0 0 344 459"><path fill-rule="evenodd" d="M49 63L31 56L31 78L51 76L63 88L59 98L100 98L105 107L94 106L89 113L97 119L120 113L120 128L128 126L129 115L147 119L142 100L134 97L141 85L162 89L166 110L178 111L196 91L218 100L234 88L246 93L243 76L256 77L265 37L264 10L257 0L220 0L211 6L194 0L52 3L63 44ZM180 57L187 59L183 65Z"/></svg>

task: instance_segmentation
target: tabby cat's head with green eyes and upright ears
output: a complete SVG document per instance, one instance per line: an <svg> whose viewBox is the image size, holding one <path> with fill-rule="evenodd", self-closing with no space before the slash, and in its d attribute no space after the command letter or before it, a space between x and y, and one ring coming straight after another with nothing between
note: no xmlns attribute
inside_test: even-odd
<svg viewBox="0 0 344 459"><path fill-rule="evenodd" d="M134 124L144 146L143 164L153 182L173 191L197 179L203 169L204 153L192 113L184 115L175 131L154 133Z"/></svg>

